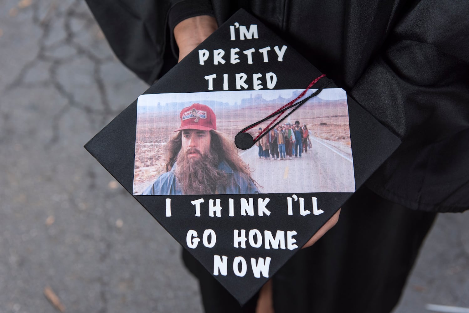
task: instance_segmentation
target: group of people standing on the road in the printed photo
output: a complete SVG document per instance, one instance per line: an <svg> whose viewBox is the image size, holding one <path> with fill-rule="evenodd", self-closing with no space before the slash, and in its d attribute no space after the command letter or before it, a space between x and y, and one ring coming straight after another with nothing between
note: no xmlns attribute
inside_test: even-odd
<svg viewBox="0 0 469 313"><path fill-rule="evenodd" d="M259 127L258 134L262 133ZM295 124L278 125L257 141L259 158L267 160L291 160L293 156L300 157L308 153L311 148L310 131L306 124L303 127L299 121Z"/></svg>

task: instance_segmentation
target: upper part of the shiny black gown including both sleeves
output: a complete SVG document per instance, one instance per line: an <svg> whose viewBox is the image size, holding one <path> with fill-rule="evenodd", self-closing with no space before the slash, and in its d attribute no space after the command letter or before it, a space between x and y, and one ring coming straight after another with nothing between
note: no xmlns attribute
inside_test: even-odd
<svg viewBox="0 0 469 313"><path fill-rule="evenodd" d="M176 63L178 21L208 14L220 24L245 8L403 140L369 188L411 209L469 208L468 1L87 3L117 57L148 83Z"/></svg>

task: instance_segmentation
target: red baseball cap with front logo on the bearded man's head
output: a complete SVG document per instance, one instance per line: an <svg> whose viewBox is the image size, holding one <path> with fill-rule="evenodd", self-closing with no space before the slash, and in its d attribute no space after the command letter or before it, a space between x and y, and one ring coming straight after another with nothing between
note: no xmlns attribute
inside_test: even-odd
<svg viewBox="0 0 469 313"><path fill-rule="evenodd" d="M205 104L192 104L182 109L179 117L181 118L181 127L174 132L183 129L217 130L217 117L212 109Z"/></svg>

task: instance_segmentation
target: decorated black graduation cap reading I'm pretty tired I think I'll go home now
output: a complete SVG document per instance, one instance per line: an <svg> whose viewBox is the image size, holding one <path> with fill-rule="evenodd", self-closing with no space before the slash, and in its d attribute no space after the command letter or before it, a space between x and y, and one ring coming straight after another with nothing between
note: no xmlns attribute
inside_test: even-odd
<svg viewBox="0 0 469 313"><path fill-rule="evenodd" d="M239 10L85 148L244 304L399 144Z"/></svg>

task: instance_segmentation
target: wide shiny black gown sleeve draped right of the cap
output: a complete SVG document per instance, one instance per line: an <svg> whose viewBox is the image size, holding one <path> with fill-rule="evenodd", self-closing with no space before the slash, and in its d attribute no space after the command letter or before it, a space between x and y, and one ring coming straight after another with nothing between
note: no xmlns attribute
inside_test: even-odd
<svg viewBox="0 0 469 313"><path fill-rule="evenodd" d="M411 209L469 209L469 5L420 1L350 90L402 139L368 180Z"/></svg>

